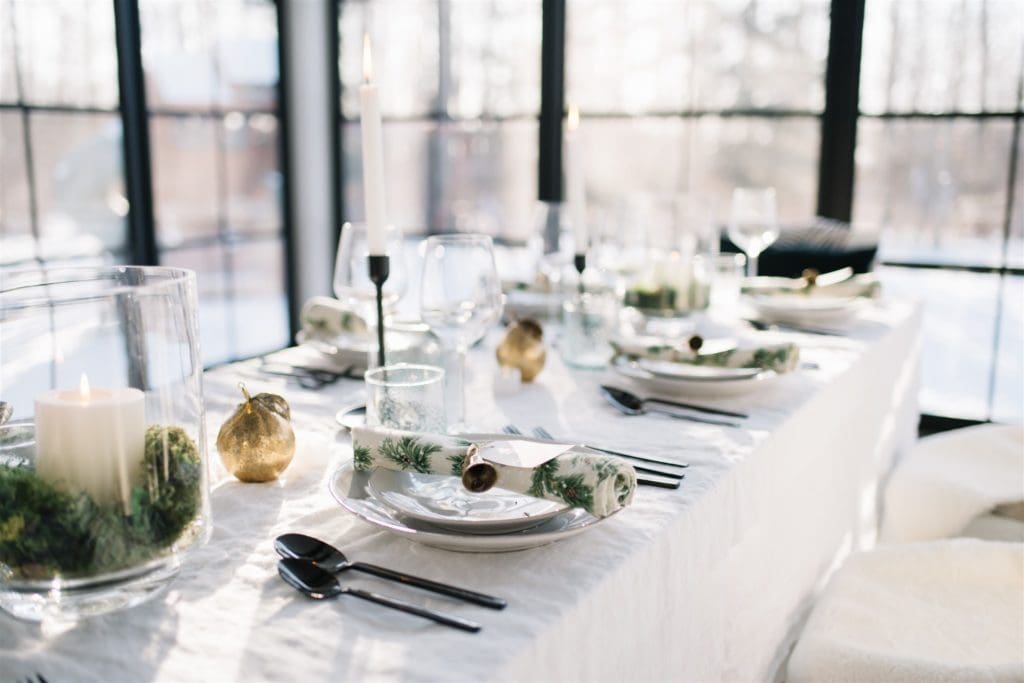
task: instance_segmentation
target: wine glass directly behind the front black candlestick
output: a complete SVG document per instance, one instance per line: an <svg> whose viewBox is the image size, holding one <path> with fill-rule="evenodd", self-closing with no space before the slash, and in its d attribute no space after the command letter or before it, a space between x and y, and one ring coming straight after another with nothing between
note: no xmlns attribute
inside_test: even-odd
<svg viewBox="0 0 1024 683"><path fill-rule="evenodd" d="M406 292L401 230L389 225L386 241L389 274L384 283L383 301L385 315L389 315L394 313L398 300ZM346 222L342 225L334 262L334 295L347 308L358 313L373 332L377 328L377 286L370 280L369 254L366 224ZM376 334L370 336L368 344L370 340L376 340ZM373 345L376 348L376 341Z"/></svg>

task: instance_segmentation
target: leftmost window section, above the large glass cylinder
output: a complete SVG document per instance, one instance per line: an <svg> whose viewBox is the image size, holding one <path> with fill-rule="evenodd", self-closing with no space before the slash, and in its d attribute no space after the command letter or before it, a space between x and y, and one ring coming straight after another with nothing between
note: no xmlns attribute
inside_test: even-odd
<svg viewBox="0 0 1024 683"><path fill-rule="evenodd" d="M92 4L0 0L0 266L126 256L114 10Z"/></svg>

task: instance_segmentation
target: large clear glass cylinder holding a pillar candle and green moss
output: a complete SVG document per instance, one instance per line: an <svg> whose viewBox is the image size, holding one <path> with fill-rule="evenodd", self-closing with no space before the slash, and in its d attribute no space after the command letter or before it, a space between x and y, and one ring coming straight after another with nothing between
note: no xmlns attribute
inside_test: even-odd
<svg viewBox="0 0 1024 683"><path fill-rule="evenodd" d="M0 608L137 604L210 532L196 275L0 274Z"/></svg>

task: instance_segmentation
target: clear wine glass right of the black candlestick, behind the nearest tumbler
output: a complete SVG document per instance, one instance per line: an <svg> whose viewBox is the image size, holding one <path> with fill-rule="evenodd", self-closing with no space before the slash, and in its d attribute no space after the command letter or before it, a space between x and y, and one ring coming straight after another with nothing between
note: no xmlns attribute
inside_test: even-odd
<svg viewBox="0 0 1024 683"><path fill-rule="evenodd" d="M439 234L424 244L420 317L454 351L445 375L449 430L465 422L466 351L502 314L502 287L490 238Z"/></svg>

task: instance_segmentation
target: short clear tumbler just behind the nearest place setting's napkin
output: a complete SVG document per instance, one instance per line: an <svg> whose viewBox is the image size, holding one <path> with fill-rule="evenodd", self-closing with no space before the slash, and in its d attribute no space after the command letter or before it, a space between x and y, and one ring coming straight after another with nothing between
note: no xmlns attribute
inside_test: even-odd
<svg viewBox="0 0 1024 683"><path fill-rule="evenodd" d="M367 424L443 434L444 371L404 362L367 371Z"/></svg>

